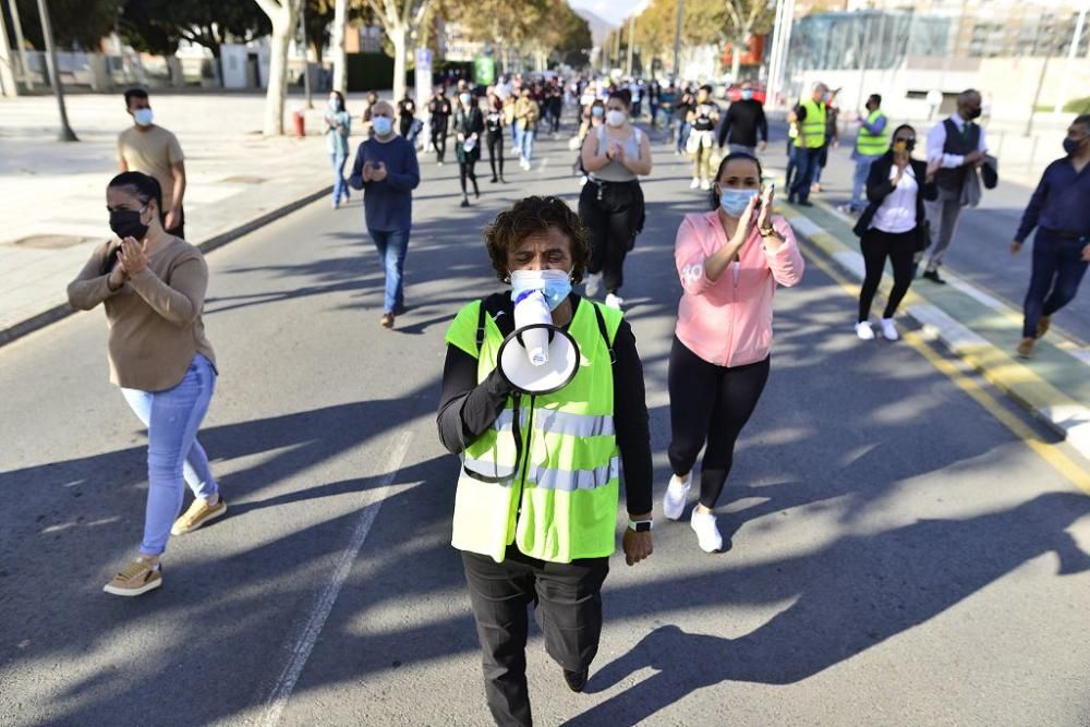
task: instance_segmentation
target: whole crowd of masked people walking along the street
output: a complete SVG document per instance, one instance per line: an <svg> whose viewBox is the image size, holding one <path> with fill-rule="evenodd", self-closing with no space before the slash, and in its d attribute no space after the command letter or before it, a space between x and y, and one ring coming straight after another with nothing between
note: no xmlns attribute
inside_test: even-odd
<svg viewBox="0 0 1090 727"><path fill-rule="evenodd" d="M534 140L557 134L566 111L581 175L578 211L557 197L526 196L499 213L484 246L504 292L465 304L446 336L437 413L439 438L461 458L452 543L461 552L484 659L485 692L497 724L529 725L525 676L526 610L542 618L546 650L573 691L586 684L597 652L601 591L615 549L623 486L628 565L653 553L653 465L643 369L625 319L625 260L645 213L640 178L653 169L652 133L662 114L666 142L692 158L691 187L704 209L677 230L674 267L682 294L668 365L670 477L662 511L679 520L701 459L697 504L689 512L697 545L722 552L714 509L735 447L768 381L773 307L779 287L799 284L804 262L760 154L768 123L752 83L725 110L711 86L692 88L573 80L502 78L489 88L443 86L426 104L397 107L368 95L359 117L365 134L348 178L352 114L329 95L323 133L334 170L332 206L363 194L364 222L385 274L379 324L393 328L407 311L404 266L412 233L413 191L421 182L417 141L443 165L448 137L459 167L461 206L481 197L475 165L487 147L492 183L505 183L505 138L522 170L534 162ZM820 170L837 143L836 93L814 84L789 113L791 167L787 201L811 206ZM170 535L199 529L227 511L197 440L218 369L202 320L208 268L184 240L184 159L178 140L154 124L145 92L125 93L134 125L119 138L120 172L106 189L116 239L97 247L69 286L71 304L101 304L109 322L111 379L148 427L149 492L136 559L105 590L134 596L162 583L159 559ZM886 262L894 284L881 334L899 334L894 316L925 251L923 277L938 275L961 209L994 186L997 161L976 122L981 98L958 96L957 110L920 144L909 124L894 126L871 95L859 114L852 159L855 232L865 266L856 335L875 338L873 299ZM644 109L646 105L646 109ZM643 111L649 129L637 124ZM831 131L831 126L834 131ZM892 131L891 131L891 128ZM913 156L918 150L925 158ZM1051 165L1010 245L1017 253L1037 231L1032 275L1018 353L1032 355L1052 316L1075 296L1090 264L1090 116L1071 123L1065 156ZM583 294L574 286L583 286ZM596 299L602 295L604 300ZM528 311L537 326L562 331L581 365L560 386L528 389L505 372L505 347ZM547 446L542 444L546 443ZM182 512L185 486L193 502Z"/></svg>

